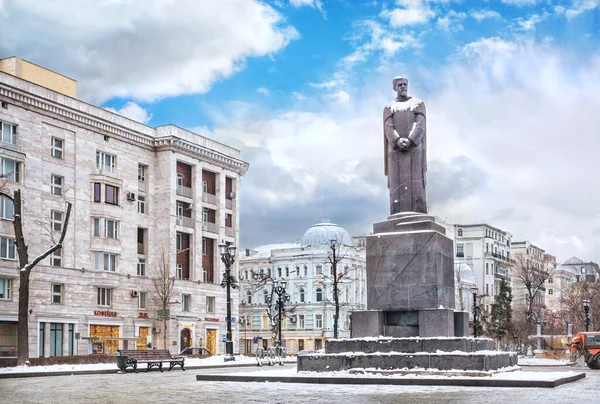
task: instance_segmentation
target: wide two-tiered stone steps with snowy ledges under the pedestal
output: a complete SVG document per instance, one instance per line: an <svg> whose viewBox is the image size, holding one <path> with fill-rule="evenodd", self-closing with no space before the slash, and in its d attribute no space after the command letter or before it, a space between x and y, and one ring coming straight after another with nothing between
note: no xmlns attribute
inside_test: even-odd
<svg viewBox="0 0 600 404"><path fill-rule="evenodd" d="M298 356L298 371L418 369L490 372L517 365L514 352L496 352L488 338L351 338L329 340L325 354Z"/></svg>

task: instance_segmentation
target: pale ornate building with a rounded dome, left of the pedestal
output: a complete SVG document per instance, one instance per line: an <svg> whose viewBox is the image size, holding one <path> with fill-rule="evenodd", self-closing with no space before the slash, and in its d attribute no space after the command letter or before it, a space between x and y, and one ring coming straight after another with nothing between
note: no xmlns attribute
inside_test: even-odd
<svg viewBox="0 0 600 404"><path fill-rule="evenodd" d="M336 251L336 266L331 256ZM334 279L338 279L338 336L350 337L350 314L364 310L366 255L364 239L353 239L341 226L323 221L312 225L299 243L267 244L241 252L239 258L240 353L277 341L277 294L285 286L289 301L281 323L289 353L321 349L334 333ZM336 272L334 274L333 272Z"/></svg>

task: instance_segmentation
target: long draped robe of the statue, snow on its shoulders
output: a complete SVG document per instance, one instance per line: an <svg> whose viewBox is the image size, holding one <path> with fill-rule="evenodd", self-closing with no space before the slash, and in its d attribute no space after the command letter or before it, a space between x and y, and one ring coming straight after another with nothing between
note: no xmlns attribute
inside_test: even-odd
<svg viewBox="0 0 600 404"><path fill-rule="evenodd" d="M392 101L383 110L385 175L390 190L390 214L427 213L425 103L417 98ZM409 150L395 148L398 138L413 143Z"/></svg>

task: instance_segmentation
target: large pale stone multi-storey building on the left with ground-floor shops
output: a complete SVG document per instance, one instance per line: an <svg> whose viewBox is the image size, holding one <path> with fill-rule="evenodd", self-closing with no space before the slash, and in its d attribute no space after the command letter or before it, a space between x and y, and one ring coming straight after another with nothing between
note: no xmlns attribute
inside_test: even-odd
<svg viewBox="0 0 600 404"><path fill-rule="evenodd" d="M73 80L33 66L0 71L0 170L9 194L21 190L31 257L53 245L67 201L72 213L62 249L31 273L30 357L148 343L224 352L217 244L239 237L236 193L248 168L239 150L82 102ZM0 356L16 356L13 206L0 205ZM167 310L156 303L162 268Z"/></svg>

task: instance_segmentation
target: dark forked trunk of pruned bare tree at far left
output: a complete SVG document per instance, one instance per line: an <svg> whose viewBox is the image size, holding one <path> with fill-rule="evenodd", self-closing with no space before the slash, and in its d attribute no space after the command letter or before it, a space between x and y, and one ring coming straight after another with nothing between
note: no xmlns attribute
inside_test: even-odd
<svg viewBox="0 0 600 404"><path fill-rule="evenodd" d="M31 271L35 266L48 255L54 251L62 248L63 241L67 235L67 228L69 226L69 218L71 217L71 202L66 202L67 213L65 215L64 223L58 241L54 240L54 236L51 233L51 247L44 252L38 254L33 260L29 260L29 246L25 241L23 233L23 212L22 212L22 199L21 190L17 189L14 194L9 195L4 187L0 190L0 195L7 199L10 199L14 205L14 220L13 227L15 230L15 245L17 247L17 253L19 255L19 314L18 314L18 325L17 325L17 363L24 365L29 360L29 278Z"/></svg>

